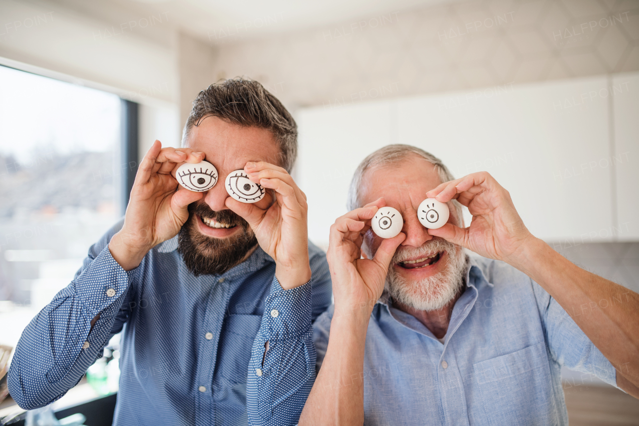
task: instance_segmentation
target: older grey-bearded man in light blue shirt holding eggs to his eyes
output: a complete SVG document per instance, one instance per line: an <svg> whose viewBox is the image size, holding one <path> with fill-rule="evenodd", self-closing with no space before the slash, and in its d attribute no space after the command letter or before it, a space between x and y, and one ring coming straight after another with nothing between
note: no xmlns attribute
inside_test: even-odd
<svg viewBox="0 0 639 426"><path fill-rule="evenodd" d="M426 198L449 205L442 228L420 224ZM371 231L383 206L404 219L392 239ZM488 173L453 180L391 145L355 171L349 207L330 230L335 304L314 324L300 425L567 425L562 365L639 397L639 295L533 237Z"/></svg>

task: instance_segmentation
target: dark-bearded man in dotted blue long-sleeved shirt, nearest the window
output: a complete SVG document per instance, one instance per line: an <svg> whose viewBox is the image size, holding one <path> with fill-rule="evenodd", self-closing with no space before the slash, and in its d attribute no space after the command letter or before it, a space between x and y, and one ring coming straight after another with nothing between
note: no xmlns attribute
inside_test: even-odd
<svg viewBox="0 0 639 426"><path fill-rule="evenodd" d="M315 352L283 352L281 341L310 341L331 296L326 257L307 241L306 197L289 175L296 138L291 115L255 81L201 91L182 148L155 141L124 221L22 334L8 374L20 407L64 395L124 328L114 425L294 424L312 377L276 366L312 364ZM204 159L219 182L178 187L178 167ZM263 199L229 196L224 180L237 170L266 189ZM249 361L270 387L259 368L247 386Z"/></svg>

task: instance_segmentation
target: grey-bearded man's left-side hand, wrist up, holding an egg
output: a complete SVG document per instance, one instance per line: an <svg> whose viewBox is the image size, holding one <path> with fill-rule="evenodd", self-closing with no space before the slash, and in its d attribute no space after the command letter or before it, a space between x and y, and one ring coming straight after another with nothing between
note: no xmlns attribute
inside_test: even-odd
<svg viewBox="0 0 639 426"><path fill-rule="evenodd" d="M333 281L335 310L373 308L384 289L386 274L395 250L406 238L399 233L381 242L373 259L362 259L362 235L371 227L375 212L386 205L383 198L337 218L330 227L327 252Z"/></svg>

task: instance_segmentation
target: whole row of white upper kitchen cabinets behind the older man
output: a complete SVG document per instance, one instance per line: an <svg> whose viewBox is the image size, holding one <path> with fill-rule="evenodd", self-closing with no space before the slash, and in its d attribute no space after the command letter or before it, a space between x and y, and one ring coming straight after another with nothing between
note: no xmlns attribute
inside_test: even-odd
<svg viewBox="0 0 639 426"><path fill-rule="evenodd" d="M366 155L406 143L440 157L455 177L491 173L511 193L528 229L546 241L636 241L638 75L302 109L296 172L309 197L309 237L328 241ZM616 93L625 82L628 88ZM469 219L466 214L466 225Z"/></svg>

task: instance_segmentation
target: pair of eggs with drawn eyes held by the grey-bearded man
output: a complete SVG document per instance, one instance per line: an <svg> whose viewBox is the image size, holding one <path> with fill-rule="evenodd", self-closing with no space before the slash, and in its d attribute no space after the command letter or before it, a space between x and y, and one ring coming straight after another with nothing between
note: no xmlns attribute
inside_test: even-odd
<svg viewBox="0 0 639 426"><path fill-rule="evenodd" d="M429 229L441 228L447 223L449 216L448 205L435 198L426 198L417 209L417 219ZM371 219L373 232L381 238L395 237L403 227L404 219L401 213L392 207L382 207Z"/></svg>

